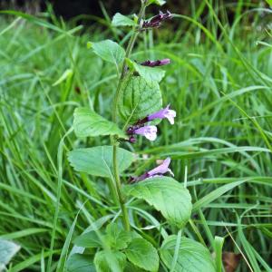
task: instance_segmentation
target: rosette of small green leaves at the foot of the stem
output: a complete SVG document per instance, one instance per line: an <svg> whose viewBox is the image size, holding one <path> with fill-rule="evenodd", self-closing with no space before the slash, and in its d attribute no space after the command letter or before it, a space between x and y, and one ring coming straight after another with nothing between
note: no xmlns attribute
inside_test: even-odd
<svg viewBox="0 0 272 272"><path fill-rule="evenodd" d="M94 265L97 271L124 270L127 259L136 267L148 271L157 271L159 256L150 242L134 232L127 232L115 223L107 226L101 238L94 232L85 233L74 240L75 245L83 248L103 248L95 254ZM109 248L105 249L106 243Z"/></svg>

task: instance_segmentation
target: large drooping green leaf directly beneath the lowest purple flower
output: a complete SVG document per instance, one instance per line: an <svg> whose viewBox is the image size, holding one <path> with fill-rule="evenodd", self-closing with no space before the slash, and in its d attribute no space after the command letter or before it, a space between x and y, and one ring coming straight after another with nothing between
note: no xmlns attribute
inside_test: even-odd
<svg viewBox="0 0 272 272"><path fill-rule="evenodd" d="M124 190L128 195L146 200L179 228L189 220L192 209L189 190L176 180L169 177L152 178L127 185Z"/></svg>

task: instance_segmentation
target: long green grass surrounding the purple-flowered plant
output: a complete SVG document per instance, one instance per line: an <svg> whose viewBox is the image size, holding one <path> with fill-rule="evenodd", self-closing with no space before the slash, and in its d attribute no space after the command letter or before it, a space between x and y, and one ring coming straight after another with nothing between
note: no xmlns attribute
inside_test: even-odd
<svg viewBox="0 0 272 272"><path fill-rule="evenodd" d="M129 146L151 159L142 156L131 173L171 156L176 180L187 179L193 196L185 234L210 251L220 248L215 236L225 238L224 251L244 256L238 271L271 271L272 54L271 29L265 23L271 11L250 6L242 14L239 6L247 3L207 1L189 17L177 15L175 32L162 28L142 36L135 59L172 61L161 91L178 117L175 126L160 124L159 139L152 145L142 140ZM229 9L237 11L234 23L228 22ZM52 269L61 254L65 261L73 235L92 222L102 226L119 212L104 180L75 174L66 160L67 151L98 145L99 140L76 141L72 133L63 141L61 164L57 153L76 106L90 105L110 116L114 67L87 50L87 41L118 37L125 43L127 36L102 28L107 24L102 19L84 31L54 17L53 24L25 19L0 16L0 238L22 247L11 271L45 271L50 254ZM65 73L67 69L73 73ZM63 179L58 178L60 165ZM57 203L59 219L53 221ZM139 201L131 201L130 212L139 231L163 222ZM154 246L160 246L164 230L178 232L167 227L146 231Z"/></svg>

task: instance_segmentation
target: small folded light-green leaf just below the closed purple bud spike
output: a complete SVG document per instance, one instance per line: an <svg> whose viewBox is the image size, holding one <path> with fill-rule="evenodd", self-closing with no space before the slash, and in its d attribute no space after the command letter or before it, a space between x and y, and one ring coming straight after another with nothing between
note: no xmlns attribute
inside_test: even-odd
<svg viewBox="0 0 272 272"><path fill-rule="evenodd" d="M147 83L160 83L165 75L165 71L161 70L160 68L143 66L141 64L131 61L130 59L126 59L126 63L132 71L136 71L137 73L139 73L140 76L144 78Z"/></svg>

